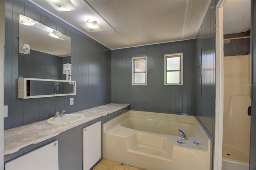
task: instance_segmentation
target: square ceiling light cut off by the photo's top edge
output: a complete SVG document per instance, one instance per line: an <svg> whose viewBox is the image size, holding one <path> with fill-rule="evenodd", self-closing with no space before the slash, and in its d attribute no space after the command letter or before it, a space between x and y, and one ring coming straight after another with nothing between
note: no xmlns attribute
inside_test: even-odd
<svg viewBox="0 0 256 170"><path fill-rule="evenodd" d="M46 2L58 12L76 10L76 7L70 0L46 0Z"/></svg>

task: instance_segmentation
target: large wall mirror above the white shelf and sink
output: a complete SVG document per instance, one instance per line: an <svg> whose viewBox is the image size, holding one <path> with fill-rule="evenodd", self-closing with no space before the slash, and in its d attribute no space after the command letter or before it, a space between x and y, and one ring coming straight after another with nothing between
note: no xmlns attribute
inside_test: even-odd
<svg viewBox="0 0 256 170"><path fill-rule="evenodd" d="M19 77L66 80L71 37L23 15L19 26Z"/></svg>

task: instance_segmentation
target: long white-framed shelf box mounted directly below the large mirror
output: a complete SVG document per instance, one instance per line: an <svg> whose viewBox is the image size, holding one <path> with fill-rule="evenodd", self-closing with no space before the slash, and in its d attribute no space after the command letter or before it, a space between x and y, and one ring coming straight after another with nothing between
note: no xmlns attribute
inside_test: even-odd
<svg viewBox="0 0 256 170"><path fill-rule="evenodd" d="M18 98L46 98L76 95L76 81L18 78Z"/></svg>

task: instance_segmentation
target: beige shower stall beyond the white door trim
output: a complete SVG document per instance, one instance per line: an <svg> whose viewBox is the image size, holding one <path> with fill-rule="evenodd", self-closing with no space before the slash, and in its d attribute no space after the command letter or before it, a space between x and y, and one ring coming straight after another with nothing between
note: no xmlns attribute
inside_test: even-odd
<svg viewBox="0 0 256 170"><path fill-rule="evenodd" d="M250 55L224 57L223 170L249 170Z"/></svg>

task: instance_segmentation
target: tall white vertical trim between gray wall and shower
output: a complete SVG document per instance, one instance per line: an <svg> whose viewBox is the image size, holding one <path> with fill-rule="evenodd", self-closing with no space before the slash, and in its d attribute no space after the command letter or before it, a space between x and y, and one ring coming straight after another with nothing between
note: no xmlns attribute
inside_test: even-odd
<svg viewBox="0 0 256 170"><path fill-rule="evenodd" d="M222 137L223 137L223 109L224 109L224 33L223 33L223 5L226 0L219 0L216 10L216 101L215 101L215 136L213 169L222 168Z"/></svg>

